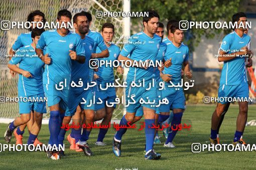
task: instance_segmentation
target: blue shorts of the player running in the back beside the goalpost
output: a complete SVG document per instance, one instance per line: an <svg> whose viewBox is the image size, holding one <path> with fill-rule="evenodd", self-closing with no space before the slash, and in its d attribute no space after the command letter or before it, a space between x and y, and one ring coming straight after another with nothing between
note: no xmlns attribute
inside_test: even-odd
<svg viewBox="0 0 256 170"><path fill-rule="evenodd" d="M98 98L102 100L102 103L95 103L95 110L106 107L106 102L108 103L108 105L110 104L110 102L115 102L115 88L110 87L106 91L95 91L95 102L99 102ZM113 105L114 108L115 106L116 104Z"/></svg>

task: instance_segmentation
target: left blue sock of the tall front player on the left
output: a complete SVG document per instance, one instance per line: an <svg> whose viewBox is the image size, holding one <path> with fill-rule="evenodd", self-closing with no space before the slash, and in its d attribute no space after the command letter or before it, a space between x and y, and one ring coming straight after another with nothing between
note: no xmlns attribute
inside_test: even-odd
<svg viewBox="0 0 256 170"><path fill-rule="evenodd" d="M60 124L59 124L59 116L60 111L50 111L50 119L49 119L49 131L50 131L50 139L48 144L58 145L58 135L60 132Z"/></svg>

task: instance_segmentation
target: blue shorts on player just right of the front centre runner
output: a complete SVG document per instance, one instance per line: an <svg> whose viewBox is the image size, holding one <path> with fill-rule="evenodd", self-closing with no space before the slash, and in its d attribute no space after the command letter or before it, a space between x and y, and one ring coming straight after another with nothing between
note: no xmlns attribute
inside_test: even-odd
<svg viewBox="0 0 256 170"><path fill-rule="evenodd" d="M160 105L160 112L170 112L171 109L181 108L185 109L185 95L183 88L176 90L175 88L168 88L162 90L163 98L167 98L168 104Z"/></svg>

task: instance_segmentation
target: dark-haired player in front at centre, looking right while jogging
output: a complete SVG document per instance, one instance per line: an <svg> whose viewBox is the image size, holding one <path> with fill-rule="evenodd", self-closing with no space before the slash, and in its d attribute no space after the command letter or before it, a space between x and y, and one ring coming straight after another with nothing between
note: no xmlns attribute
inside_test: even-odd
<svg viewBox="0 0 256 170"><path fill-rule="evenodd" d="M156 11L148 11L148 16L143 17L144 31L136 33L133 35L129 41L124 45L121 50L118 60L130 60L132 64L136 61L142 60L148 62L149 60L156 61L156 57L159 51L161 37L156 35L159 15ZM140 43L141 42L141 43ZM143 44L143 43L144 44ZM130 54L130 58L127 57ZM153 123L155 123L155 113L156 107L149 103L140 103L140 99L147 99L152 101L157 99L157 89L156 86L151 87L149 90L149 83L153 80L154 67L153 66L131 66L127 74L126 82L127 87L125 89L126 102L133 99L136 103L130 103L126 107L126 114L121 118L119 125L127 125L129 121L133 121L135 113L140 106L143 106L143 112L146 122L146 154L145 159L159 159L161 154L156 153L153 149L155 129L151 128ZM138 83L139 81L145 81L144 87L133 87L132 82ZM126 104L127 104L126 103ZM120 128L113 137L113 152L116 156L121 155L121 137L125 133L126 128Z"/></svg>

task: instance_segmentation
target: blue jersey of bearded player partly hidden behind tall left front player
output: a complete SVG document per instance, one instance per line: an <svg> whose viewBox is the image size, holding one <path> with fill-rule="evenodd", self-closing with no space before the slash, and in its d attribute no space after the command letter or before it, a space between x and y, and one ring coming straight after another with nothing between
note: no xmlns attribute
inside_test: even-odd
<svg viewBox="0 0 256 170"><path fill-rule="evenodd" d="M85 50L85 62L81 64L78 61L72 60L71 80L78 84L78 81L81 78L83 81L83 86L71 87L70 89L73 90L83 90L83 88L87 86L86 84L89 81L89 60L91 57L94 40L86 35L85 38L82 39L82 44Z"/></svg>

